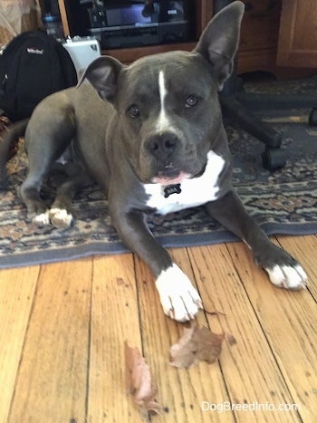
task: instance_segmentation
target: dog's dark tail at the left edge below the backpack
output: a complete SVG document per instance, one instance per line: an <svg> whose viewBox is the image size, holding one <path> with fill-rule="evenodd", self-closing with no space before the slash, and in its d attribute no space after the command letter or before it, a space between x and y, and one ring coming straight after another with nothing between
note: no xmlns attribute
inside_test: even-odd
<svg viewBox="0 0 317 423"><path fill-rule="evenodd" d="M9 149L14 139L23 137L29 119L19 120L11 126L5 128L0 137L0 189L5 189L7 178L5 163L9 158Z"/></svg>

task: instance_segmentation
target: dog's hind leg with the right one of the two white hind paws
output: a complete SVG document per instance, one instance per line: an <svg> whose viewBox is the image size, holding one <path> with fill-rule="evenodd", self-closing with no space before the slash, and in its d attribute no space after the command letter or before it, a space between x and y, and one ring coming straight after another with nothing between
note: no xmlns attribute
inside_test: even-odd
<svg viewBox="0 0 317 423"><path fill-rule="evenodd" d="M53 226L64 228L72 224L72 198L77 192L91 184L85 170L80 166L68 163L65 166L69 178L57 189L57 195L49 211Z"/></svg>

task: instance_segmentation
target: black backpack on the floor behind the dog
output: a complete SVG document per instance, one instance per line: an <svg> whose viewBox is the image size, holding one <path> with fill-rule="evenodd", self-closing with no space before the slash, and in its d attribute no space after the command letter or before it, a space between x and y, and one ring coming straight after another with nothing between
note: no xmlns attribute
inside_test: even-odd
<svg viewBox="0 0 317 423"><path fill-rule="evenodd" d="M43 98L76 83L69 53L43 31L17 35L0 55L0 109L12 121L30 117Z"/></svg>

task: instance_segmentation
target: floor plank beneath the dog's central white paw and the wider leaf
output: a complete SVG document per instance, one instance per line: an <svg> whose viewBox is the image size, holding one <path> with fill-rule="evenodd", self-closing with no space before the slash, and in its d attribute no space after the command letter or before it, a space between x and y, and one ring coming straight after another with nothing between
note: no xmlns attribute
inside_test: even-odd
<svg viewBox="0 0 317 423"><path fill-rule="evenodd" d="M174 260L194 282L187 250L174 249ZM203 411L203 401L217 404L228 400L226 384L218 363L208 365L201 362L189 370L176 369L169 364L169 348L182 336L184 323L172 321L164 315L159 303L153 276L148 266L136 259L139 290L139 309L142 328L144 355L159 387L159 401L165 411L153 418L155 422L232 422L233 414ZM197 324L207 325L203 312L197 317ZM206 407L206 406L205 406Z"/></svg>

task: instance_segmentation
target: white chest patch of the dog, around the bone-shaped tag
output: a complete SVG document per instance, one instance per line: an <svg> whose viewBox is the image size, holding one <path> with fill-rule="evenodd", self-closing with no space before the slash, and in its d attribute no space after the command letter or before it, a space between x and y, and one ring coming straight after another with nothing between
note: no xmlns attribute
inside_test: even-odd
<svg viewBox="0 0 317 423"><path fill-rule="evenodd" d="M160 184L144 184L149 195L147 206L155 208L161 215L167 215L188 207L197 207L216 200L219 187L217 179L224 168L225 160L210 150L207 154L207 167L201 177L185 179L181 192L164 197L164 187Z"/></svg>

